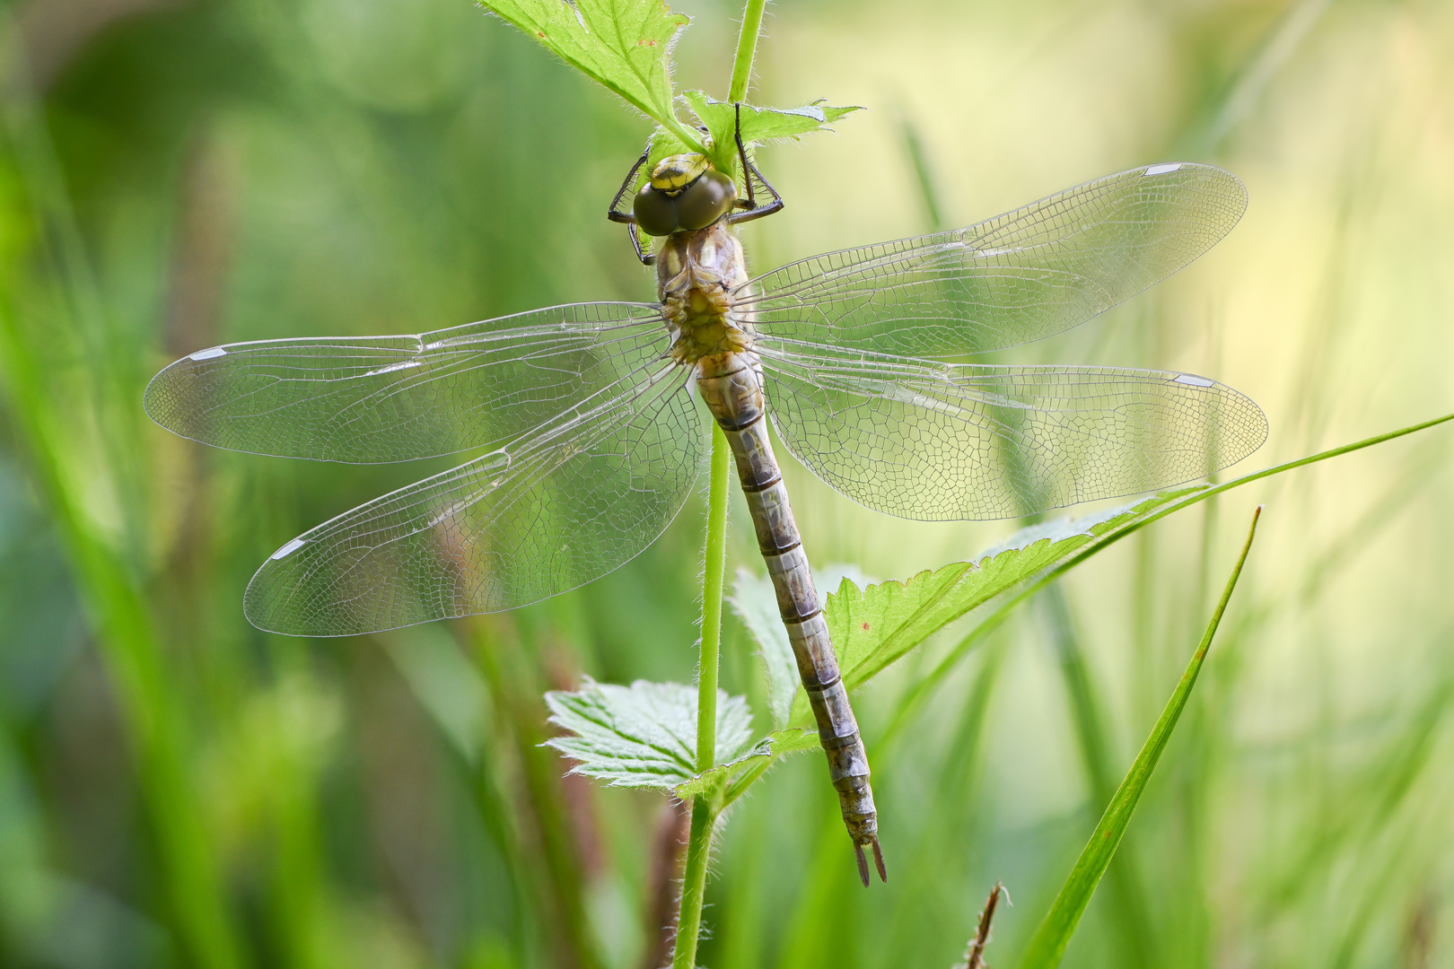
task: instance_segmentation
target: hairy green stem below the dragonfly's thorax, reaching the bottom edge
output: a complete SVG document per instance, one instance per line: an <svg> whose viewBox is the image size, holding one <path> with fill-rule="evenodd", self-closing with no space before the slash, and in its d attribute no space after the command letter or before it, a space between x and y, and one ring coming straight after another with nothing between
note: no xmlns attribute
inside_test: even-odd
<svg viewBox="0 0 1454 969"><path fill-rule="evenodd" d="M696 773L717 763L717 664L723 632L723 580L727 572L727 436L712 421L711 482L707 490L707 555L702 567L702 646L696 668ZM672 969L696 965L696 936L707 896L707 857L712 847L720 792L692 798L692 834L682 873L682 905L676 918Z"/></svg>

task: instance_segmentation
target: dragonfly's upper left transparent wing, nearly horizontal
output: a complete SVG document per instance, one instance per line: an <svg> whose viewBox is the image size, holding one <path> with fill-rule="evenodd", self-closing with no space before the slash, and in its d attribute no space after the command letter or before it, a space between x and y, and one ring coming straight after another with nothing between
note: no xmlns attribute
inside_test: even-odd
<svg viewBox="0 0 1454 969"><path fill-rule="evenodd" d="M217 447L387 463L512 440L666 344L659 307L573 304L419 336L199 350L157 373L144 402Z"/></svg>

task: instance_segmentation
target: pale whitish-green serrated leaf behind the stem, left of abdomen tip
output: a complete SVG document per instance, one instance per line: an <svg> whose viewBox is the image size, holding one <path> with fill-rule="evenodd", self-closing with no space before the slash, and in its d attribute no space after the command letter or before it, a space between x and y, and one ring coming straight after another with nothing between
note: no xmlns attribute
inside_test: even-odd
<svg viewBox="0 0 1454 969"><path fill-rule="evenodd" d="M717 755L731 763L753 750L752 710L744 697L717 696ZM579 761L573 774L664 790L696 777L696 687L587 678L573 693L547 693L545 705L550 722L571 734L545 742Z"/></svg>

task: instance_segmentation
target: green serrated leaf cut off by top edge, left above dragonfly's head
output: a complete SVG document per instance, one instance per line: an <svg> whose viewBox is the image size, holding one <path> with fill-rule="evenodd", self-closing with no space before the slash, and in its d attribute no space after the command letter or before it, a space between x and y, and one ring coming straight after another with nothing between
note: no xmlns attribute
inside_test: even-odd
<svg viewBox="0 0 1454 969"><path fill-rule="evenodd" d="M663 0L486 0L480 6L673 132L699 139L672 108L672 45L691 23Z"/></svg>

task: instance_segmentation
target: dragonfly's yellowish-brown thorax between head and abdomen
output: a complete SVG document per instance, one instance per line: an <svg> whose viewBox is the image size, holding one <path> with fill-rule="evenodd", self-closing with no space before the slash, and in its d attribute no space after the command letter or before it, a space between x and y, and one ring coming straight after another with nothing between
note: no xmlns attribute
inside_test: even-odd
<svg viewBox="0 0 1454 969"><path fill-rule="evenodd" d="M657 295L672 331L672 359L692 365L717 353L752 349L752 325L734 308L746 282L742 243L724 224L678 232L656 261Z"/></svg>

